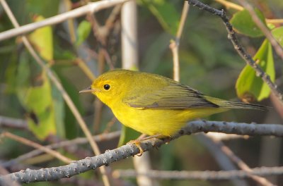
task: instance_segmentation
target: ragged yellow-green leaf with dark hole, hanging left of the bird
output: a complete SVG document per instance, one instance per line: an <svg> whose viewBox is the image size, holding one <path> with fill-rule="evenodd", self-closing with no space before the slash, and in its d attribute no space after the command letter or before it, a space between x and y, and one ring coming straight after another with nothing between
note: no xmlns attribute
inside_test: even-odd
<svg viewBox="0 0 283 186"><path fill-rule="evenodd" d="M28 63L23 61L18 68L18 79L23 73L28 72ZM25 77L25 81L27 78ZM25 108L28 116L28 127L35 136L44 140L48 135L56 133L57 118L50 81L45 73L42 73L42 84L37 87L28 87L25 82L17 87L18 98Z"/></svg>

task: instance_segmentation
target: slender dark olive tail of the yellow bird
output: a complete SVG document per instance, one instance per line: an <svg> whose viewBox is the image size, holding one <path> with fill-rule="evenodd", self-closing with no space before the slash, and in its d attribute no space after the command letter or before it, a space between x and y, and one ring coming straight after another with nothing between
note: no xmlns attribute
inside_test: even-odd
<svg viewBox="0 0 283 186"><path fill-rule="evenodd" d="M213 104L218 105L221 108L226 109L255 109L260 111L265 111L268 109L267 106L262 106L258 104L246 104L243 102L236 102L236 101L226 101L223 99L217 99L214 97L205 97L208 101L211 101Z"/></svg>

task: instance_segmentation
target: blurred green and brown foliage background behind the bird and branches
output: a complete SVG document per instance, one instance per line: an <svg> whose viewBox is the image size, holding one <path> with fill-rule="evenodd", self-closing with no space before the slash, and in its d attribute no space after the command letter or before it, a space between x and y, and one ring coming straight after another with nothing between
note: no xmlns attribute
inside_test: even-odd
<svg viewBox="0 0 283 186"><path fill-rule="evenodd" d="M204 2L214 8L226 9L223 4L216 1ZM20 25L25 25L78 8L87 4L88 1L8 0L7 3ZM251 3L265 18L283 18L281 0L252 1ZM178 29L183 1L141 0L137 1L137 4L139 70L172 77L173 58L168 46L171 39L175 38ZM117 121L110 126L110 123L113 123L111 122L113 116L108 107L99 104L92 95L79 94L79 90L91 84L91 73L97 77L112 67L121 68L119 11L112 21L109 35L102 37L103 30L97 27L100 25L101 28L101 25L105 24L112 10L109 8L96 13L97 22L94 23L91 16L82 16L62 24L44 27L27 35L38 54L54 70L93 134L121 128ZM231 18L237 12L231 8L227 10L227 15ZM279 24L274 26L279 27ZM13 25L0 6L0 32L12 28ZM254 56L265 37L239 35L239 39L248 53ZM103 53L103 50L107 51L107 55ZM220 18L199 8L190 7L180 40L179 55L180 82L212 97L237 99L235 85L246 63L238 56L231 41L227 39L226 28ZM64 103L62 95L52 85L46 72L42 71L25 49L21 37L0 42L0 59L0 116L21 118L28 122L28 130L0 128L0 131L8 130L41 144L55 142L54 136L59 139L84 136L68 106ZM275 54L273 61L275 66L273 75L276 74L275 80L278 85L281 85L282 60ZM270 99L264 99L260 104L274 107ZM282 123L282 118L275 109L229 111L206 119L245 123ZM103 142L100 143L100 147L104 150L114 149L117 147L117 142L118 139ZM225 143L250 167L279 166L283 163L281 139L250 137L248 140L229 140ZM181 137L168 145L163 145L159 150L150 152L152 167L156 170L177 171L221 170L207 145L195 135ZM83 145L79 149L81 150L73 154L59 151L73 159L82 159L85 154L91 156L88 145ZM30 150L30 147L25 147L18 142L3 139L0 144L0 160L8 161ZM79 154L81 151L83 155ZM25 168L60 165L59 161L50 157L20 164L23 164ZM127 159L113 163L110 167L115 170L133 166L131 159ZM8 170L13 171L11 168ZM14 170L17 170L17 166ZM90 172L76 177L83 180L93 179ZM282 176L276 179L278 184L283 182ZM126 181L136 184L135 180ZM158 181L158 183L160 185L233 185L230 181L198 180L166 180ZM248 180L248 183L255 184L252 180ZM58 185L58 182L40 182L30 185Z"/></svg>

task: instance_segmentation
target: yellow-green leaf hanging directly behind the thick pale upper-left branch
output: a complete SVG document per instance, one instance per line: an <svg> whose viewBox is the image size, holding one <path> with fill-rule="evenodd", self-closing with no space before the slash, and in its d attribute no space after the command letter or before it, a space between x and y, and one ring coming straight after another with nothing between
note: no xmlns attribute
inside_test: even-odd
<svg viewBox="0 0 283 186"><path fill-rule="evenodd" d="M36 16L35 22L44 20L43 16ZM46 61L53 59L53 34L52 27L42 27L32 32L28 39L35 46L40 56Z"/></svg>

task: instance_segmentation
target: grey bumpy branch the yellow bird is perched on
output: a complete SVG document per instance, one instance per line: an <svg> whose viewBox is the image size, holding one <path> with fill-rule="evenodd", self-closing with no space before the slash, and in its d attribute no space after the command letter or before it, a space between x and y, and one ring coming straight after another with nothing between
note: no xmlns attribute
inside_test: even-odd
<svg viewBox="0 0 283 186"><path fill-rule="evenodd" d="M233 133L238 135L273 135L282 137L283 125L196 120L188 123L185 128L171 137L170 140L177 139L183 135L209 131L224 132L227 134ZM141 142L140 146L142 149L144 149L144 151L149 151L156 147L160 147L166 142L168 142L168 139L151 139ZM139 154L139 148L135 144L127 144L117 149L107 150L104 154L100 154L98 156L93 156L91 158L87 157L86 159L73 161L67 166L41 168L39 170L26 169L25 171L3 175L0 176L0 185L5 179L11 179L18 182L39 182L69 178L71 176L78 175L79 173L96 169L100 166L108 166L112 162L120 161L136 154Z"/></svg>

